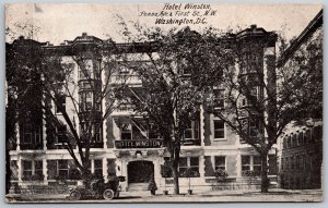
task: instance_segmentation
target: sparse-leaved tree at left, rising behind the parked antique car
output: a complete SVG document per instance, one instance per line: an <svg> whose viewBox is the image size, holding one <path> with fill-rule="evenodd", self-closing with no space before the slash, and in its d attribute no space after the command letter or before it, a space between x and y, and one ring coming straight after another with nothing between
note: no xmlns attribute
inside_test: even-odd
<svg viewBox="0 0 328 208"><path fill-rule="evenodd" d="M70 56L44 48L39 72L45 118L89 185L90 150L103 148L103 122L119 106L126 79L115 78L119 53L113 41L80 47Z"/></svg>

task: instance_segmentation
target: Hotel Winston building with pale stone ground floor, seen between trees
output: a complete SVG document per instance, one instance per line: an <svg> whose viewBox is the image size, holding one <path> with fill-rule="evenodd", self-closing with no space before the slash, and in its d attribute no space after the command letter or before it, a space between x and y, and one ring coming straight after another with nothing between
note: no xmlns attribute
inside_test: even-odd
<svg viewBox="0 0 328 208"><path fill-rule="evenodd" d="M273 33L266 32L263 28L258 28L253 25L238 34L235 34L234 41L246 44L247 41L256 41L261 38L272 36ZM271 41L263 47L263 52L256 59L258 66L261 68L265 74L268 71L274 70L267 64L267 58L276 56L276 36ZM26 39L15 40L8 49L19 46L24 46ZM72 57L78 52L83 52L85 48L92 46L101 46L106 41L93 36L82 34L72 41L66 41L60 46L51 46L49 44L34 42L42 48L43 51L57 51L61 56L61 60L67 64L74 64ZM30 45L30 44L28 44ZM117 47L129 47L127 44L117 44ZM142 53L147 47L134 50L134 53ZM90 54L93 63L93 71L99 68L99 60L94 54ZM143 59L140 56L140 59ZM87 86L83 85L83 75L79 74L78 65L72 65L79 83L79 93L77 99L82 101L81 112L89 107L89 102L93 102L92 95L89 95ZM138 95L142 91L141 81L132 70L121 71L124 74L117 76L128 76L130 93ZM243 72L243 76L247 76ZM79 75L78 75L79 74ZM242 75L242 74L241 74ZM40 78L40 77L39 77ZM98 77L97 82L104 82L103 77ZM9 83L10 85L10 83ZM257 95L262 91L257 89ZM92 105L92 103L91 103ZM72 106L63 97L62 106L71 109ZM56 113L54 103L49 103L50 109L56 117L62 117ZM97 113L103 114L106 103L102 103ZM10 162L12 164L12 173L14 176L12 182L20 186L28 185L58 185L60 183L77 184L74 178L77 168L69 152L65 149L60 142L60 132L65 130L56 130L50 125L47 113L42 109L30 110L28 118L33 118L34 113L40 112L44 120L37 120L37 124L33 124L30 120L20 121L19 129L14 138L16 146L10 151ZM24 113L22 113L24 114ZM129 103L120 106L115 110L104 122L99 122L99 133L91 149L91 172L104 175L105 181L110 175L125 175L127 181L122 183L125 191L147 191L148 182L151 176L154 176L160 189L164 186L172 188L172 178L164 178L161 174L163 164L168 157L165 148L162 145L161 138L152 132L151 127L145 124L142 118L131 117L133 114ZM37 119L37 118L35 118ZM77 124L79 125L79 124ZM65 129L65 127L63 127ZM269 178L271 182L277 178L277 156L276 148L269 152ZM214 189L214 188L249 188L248 176L244 175L245 171L254 171L259 175L261 170L261 159L256 150L241 140L227 125L212 114L200 110L196 120L189 123L189 129L185 132L185 140L183 142L179 172L184 172L187 168L191 168L198 174L191 179L191 186L195 191ZM218 186L214 176L216 169L223 169L227 172L227 182L222 186ZM255 176L254 186L259 186L259 179ZM165 185L166 183L166 185ZM188 188L188 179L179 179L181 192Z"/></svg>

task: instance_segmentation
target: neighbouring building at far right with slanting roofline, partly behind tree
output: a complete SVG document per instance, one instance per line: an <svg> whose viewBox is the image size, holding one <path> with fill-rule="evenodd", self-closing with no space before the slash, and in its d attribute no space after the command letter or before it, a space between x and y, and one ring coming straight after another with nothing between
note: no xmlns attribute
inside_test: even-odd
<svg viewBox="0 0 328 208"><path fill-rule="evenodd" d="M278 68L289 70L300 68L295 57L305 57L313 62L313 71L323 68L323 10L305 27L301 35L283 51ZM312 47L321 47L313 50ZM306 51L306 54L304 53ZM318 82L320 84L320 82ZM315 91L312 91L316 94ZM316 95L323 98L323 91ZM323 105L323 102L317 103ZM279 181L282 188L321 188L323 184L323 119L321 111L314 113L308 125L288 127L279 138Z"/></svg>

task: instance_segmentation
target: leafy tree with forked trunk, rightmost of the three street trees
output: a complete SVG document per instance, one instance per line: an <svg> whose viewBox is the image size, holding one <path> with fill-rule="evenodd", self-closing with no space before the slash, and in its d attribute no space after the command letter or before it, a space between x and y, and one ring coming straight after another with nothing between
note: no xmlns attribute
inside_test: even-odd
<svg viewBox="0 0 328 208"><path fill-rule="evenodd" d="M261 192L268 192L268 152L290 124L321 118L323 37L276 68L277 35L231 48L233 62L204 94L204 107L223 120L261 157ZM279 39L279 51L285 40ZM238 68L234 68L237 65ZM221 91L219 89L224 89ZM224 91L224 93L223 93Z"/></svg>

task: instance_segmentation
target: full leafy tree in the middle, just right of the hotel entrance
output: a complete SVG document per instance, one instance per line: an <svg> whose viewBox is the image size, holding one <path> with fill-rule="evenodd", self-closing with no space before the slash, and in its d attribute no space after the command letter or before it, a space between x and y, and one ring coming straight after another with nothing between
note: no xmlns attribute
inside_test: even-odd
<svg viewBox="0 0 328 208"><path fill-rule="evenodd" d="M178 172L180 147L187 144L187 129L191 125L192 145L200 145L198 122L208 77L199 74L208 73L213 79L218 77L229 58L220 48L226 42L216 41L211 28L201 35L189 27L166 33L137 24L136 30L140 32L136 37L130 37L127 29L124 34L128 34L132 46L141 42L147 46L147 50L134 57L138 60L138 56L143 56L147 61L125 62L142 81L142 93L127 86L132 91L129 100L136 114L144 117L162 137L169 154L167 164L173 173L174 194L179 194L178 179L183 174Z"/></svg>

